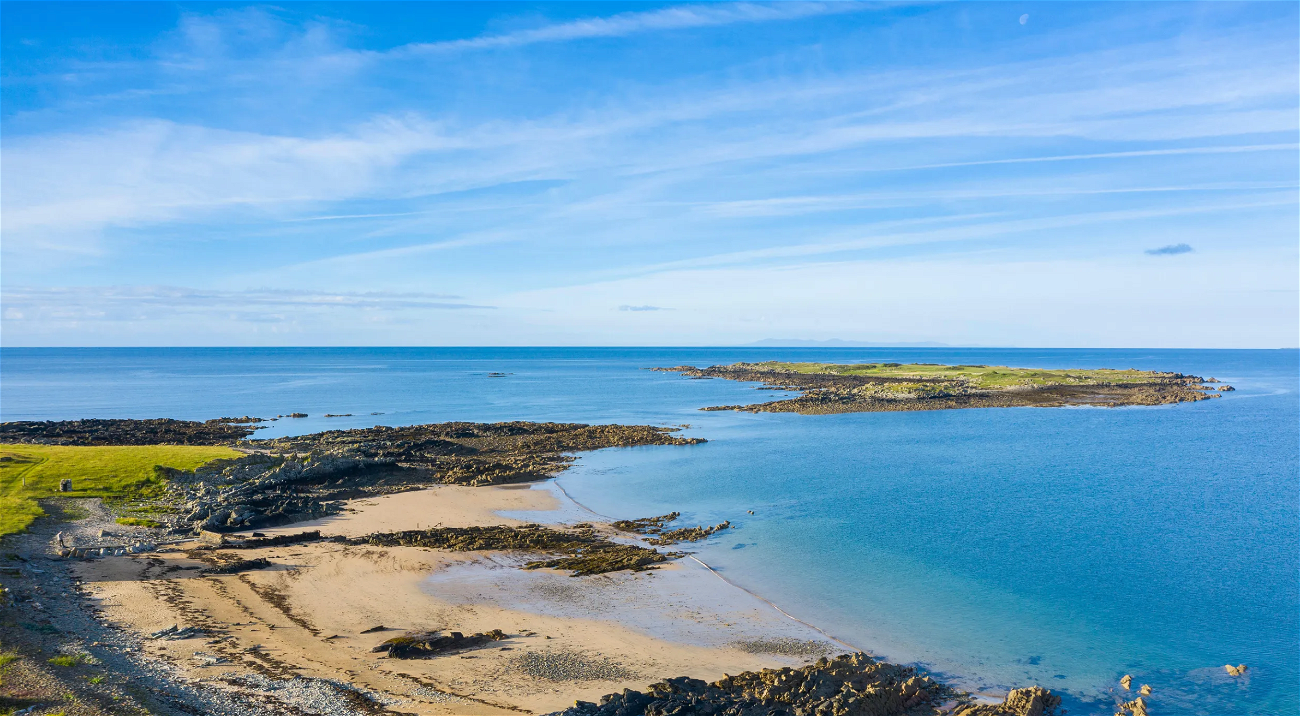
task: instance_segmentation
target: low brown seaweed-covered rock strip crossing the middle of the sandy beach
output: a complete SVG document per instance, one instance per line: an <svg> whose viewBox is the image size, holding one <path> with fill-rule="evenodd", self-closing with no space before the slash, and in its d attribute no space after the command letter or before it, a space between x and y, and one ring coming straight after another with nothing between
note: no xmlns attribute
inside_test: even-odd
<svg viewBox="0 0 1300 716"><path fill-rule="evenodd" d="M660 563L682 556L677 552L659 552L637 544L620 544L599 535L592 528L558 530L541 525L390 531L354 538L348 543L376 547L425 547L456 552L484 550L559 552L563 556L529 561L524 564L524 569L566 569L571 570L573 577L621 570L645 572L654 569Z"/></svg>

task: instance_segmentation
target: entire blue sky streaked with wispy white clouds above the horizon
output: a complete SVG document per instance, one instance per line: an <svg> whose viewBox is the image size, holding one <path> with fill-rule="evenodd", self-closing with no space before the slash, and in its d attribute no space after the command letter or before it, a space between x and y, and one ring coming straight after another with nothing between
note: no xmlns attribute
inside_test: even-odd
<svg viewBox="0 0 1300 716"><path fill-rule="evenodd" d="M1297 344L1295 3L0 13L5 346Z"/></svg>

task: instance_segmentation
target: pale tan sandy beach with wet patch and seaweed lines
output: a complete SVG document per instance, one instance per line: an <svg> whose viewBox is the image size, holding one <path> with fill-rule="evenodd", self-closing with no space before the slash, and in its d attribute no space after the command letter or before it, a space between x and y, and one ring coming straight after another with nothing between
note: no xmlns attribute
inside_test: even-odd
<svg viewBox="0 0 1300 716"><path fill-rule="evenodd" d="M358 500L351 507L354 512L346 515L263 531L320 529L326 535L355 537L434 525L521 524L500 516L502 511L515 516L552 511L551 518L581 520L572 503L528 486L443 486ZM166 552L88 561L79 569L105 617L129 630L148 634L173 624L207 629L203 638L148 642L151 652L188 677L261 672L332 678L377 691L394 702L394 710L408 713L545 713L575 699L645 689L664 677L716 680L724 673L811 660L728 646L737 641L826 641L690 559L653 572L575 578L520 569L528 555L506 552L308 543L242 550L239 556L265 556L274 568L200 577L192 569L174 569L198 563ZM377 625L390 630L360 633ZM370 652L408 629L465 634L500 629L510 638L426 660ZM225 641L208 643L224 635ZM833 643L829 648L848 651ZM530 651L577 652L625 672L620 680L549 681L515 664ZM204 656L228 663L205 665Z"/></svg>

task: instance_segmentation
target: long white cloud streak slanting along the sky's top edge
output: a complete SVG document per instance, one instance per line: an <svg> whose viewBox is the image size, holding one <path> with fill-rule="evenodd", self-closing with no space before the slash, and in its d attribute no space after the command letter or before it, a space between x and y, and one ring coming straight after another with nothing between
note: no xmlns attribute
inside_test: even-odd
<svg viewBox="0 0 1300 716"><path fill-rule="evenodd" d="M482 35L462 40L416 43L394 51L403 52L455 52L465 49L494 49L537 43L558 43L592 38L623 38L640 32L716 27L720 25L779 22L824 14L853 13L871 9L867 3L725 3L710 5L679 5L660 10L619 13L610 17L589 17L571 22L543 25L530 30L516 30L499 35Z"/></svg>

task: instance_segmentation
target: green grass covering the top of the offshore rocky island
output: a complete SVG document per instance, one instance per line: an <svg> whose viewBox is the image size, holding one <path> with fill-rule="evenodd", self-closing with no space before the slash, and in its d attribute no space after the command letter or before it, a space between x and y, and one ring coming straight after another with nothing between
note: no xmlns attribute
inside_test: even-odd
<svg viewBox="0 0 1300 716"><path fill-rule="evenodd" d="M836 376L881 376L889 378L963 379L979 389L1048 385L1144 383L1157 378L1149 370L1008 368L1005 365L937 365L930 363L863 363L837 365L831 363L751 364L759 370L792 373L833 373Z"/></svg>

